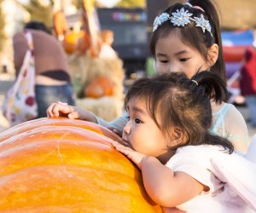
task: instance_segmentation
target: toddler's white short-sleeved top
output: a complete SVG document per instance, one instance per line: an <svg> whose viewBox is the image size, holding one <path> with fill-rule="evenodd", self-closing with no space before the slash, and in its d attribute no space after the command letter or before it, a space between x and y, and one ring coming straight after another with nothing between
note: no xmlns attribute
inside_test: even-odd
<svg viewBox="0 0 256 213"><path fill-rule="evenodd" d="M254 212L245 200L240 197L242 194L238 195L238 193L229 186L229 183L219 179L218 170L216 170L216 167L212 164L212 159L214 158L224 158L229 162L230 158L239 157L236 153L224 153L223 147L219 146L186 146L178 148L177 152L166 163L166 166L173 171L183 171L203 185L209 187L208 192L202 192L195 196L195 198L178 205L177 208L188 213ZM242 166L242 164L245 164L242 160L239 161L239 163L241 166L239 167L237 164L232 170L238 168L237 170L240 172L238 174L240 174L240 177L243 177L242 180L245 182L251 181L252 185L254 182L251 180L252 178L244 176L244 174L247 174L248 168ZM250 166L253 169L255 168L252 164L250 164ZM249 170L251 167L249 167ZM255 177L256 175L254 174L253 176ZM253 190L252 193L255 194L255 187L249 190Z"/></svg>

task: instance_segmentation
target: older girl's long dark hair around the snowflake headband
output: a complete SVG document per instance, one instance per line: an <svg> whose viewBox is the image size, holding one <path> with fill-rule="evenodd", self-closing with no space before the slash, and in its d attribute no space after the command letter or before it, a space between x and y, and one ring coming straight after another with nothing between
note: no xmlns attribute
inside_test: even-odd
<svg viewBox="0 0 256 213"><path fill-rule="evenodd" d="M189 13L193 14L192 17L201 17L201 14L206 20L209 20L212 26L212 35L209 32L202 32L201 27L195 26L195 21L191 21L186 26L173 26L170 20L166 20L160 25L156 31L151 35L149 48L152 55L155 57L155 46L157 41L161 37L166 37L170 32L175 31L177 35L181 37L183 43L189 45L191 48L197 49L199 53L207 60L207 50L212 46L213 43L218 44L218 60L211 67L210 71L215 71L218 75L223 78L226 83L226 71L224 66L224 55L222 49L222 41L220 34L220 26L218 20L218 12L212 0L190 0L190 4L193 6L199 6L201 9L190 7L187 4L175 3L162 13L167 13L172 16L172 13L176 10L185 9Z"/></svg>

